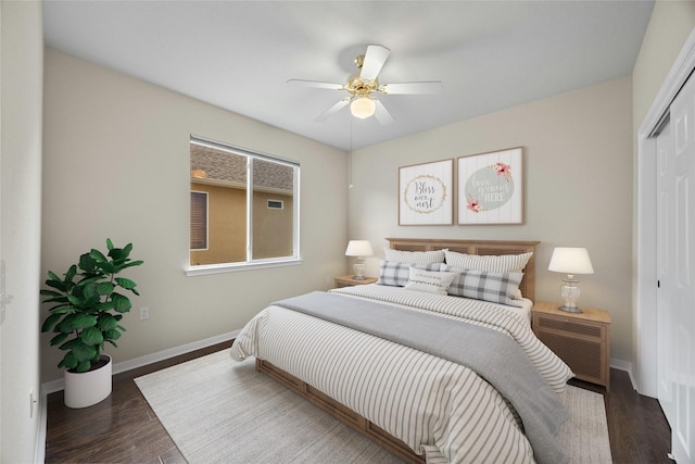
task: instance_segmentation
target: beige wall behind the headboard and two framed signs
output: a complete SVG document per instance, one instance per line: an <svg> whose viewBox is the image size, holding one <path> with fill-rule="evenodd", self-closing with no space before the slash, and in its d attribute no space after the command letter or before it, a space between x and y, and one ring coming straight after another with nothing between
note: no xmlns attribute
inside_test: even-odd
<svg viewBox="0 0 695 464"><path fill-rule="evenodd" d="M547 271L554 247L586 247L595 274L580 276L580 304L608 310L611 356L631 361L632 86L623 77L353 153L350 238L540 240L536 299L560 301ZM465 104L465 102L462 102ZM507 226L399 226L399 166L523 147L526 222Z"/></svg>

